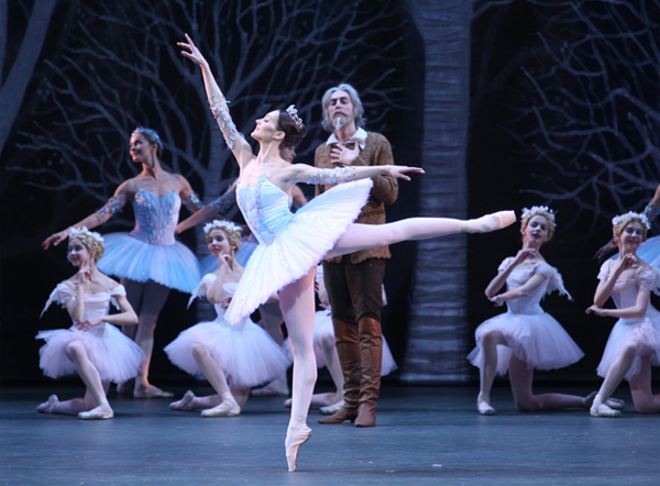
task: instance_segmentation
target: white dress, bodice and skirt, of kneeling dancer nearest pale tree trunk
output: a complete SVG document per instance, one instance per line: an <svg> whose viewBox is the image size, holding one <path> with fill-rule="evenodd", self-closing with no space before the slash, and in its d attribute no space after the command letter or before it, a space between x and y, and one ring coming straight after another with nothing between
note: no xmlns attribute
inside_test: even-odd
<svg viewBox="0 0 660 486"><path fill-rule="evenodd" d="M498 267L503 272L514 262L513 257L505 258ZM543 275L546 279L527 296L518 297L506 302L507 312L483 322L475 331L476 347L468 355L474 366L482 365L482 334L497 330L504 334L506 345L497 346L497 374L508 371L512 354L525 361L534 369L557 369L569 366L584 356L582 350L564 331L557 320L544 312L540 301L546 294L566 292L559 272L547 263L534 267L517 266L506 279L507 289L525 285L535 275Z"/></svg>

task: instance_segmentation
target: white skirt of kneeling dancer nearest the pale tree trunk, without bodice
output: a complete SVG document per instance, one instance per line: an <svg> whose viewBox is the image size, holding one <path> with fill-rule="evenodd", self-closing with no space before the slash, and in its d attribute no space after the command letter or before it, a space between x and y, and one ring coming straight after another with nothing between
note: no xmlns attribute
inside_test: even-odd
<svg viewBox="0 0 660 486"><path fill-rule="evenodd" d="M497 346L497 374L508 371L512 354L535 369L557 369L582 358L584 353L549 313L517 314L506 312L488 319L476 328L476 347L468 360L476 367L482 365L481 336L485 331L498 330L506 346Z"/></svg>

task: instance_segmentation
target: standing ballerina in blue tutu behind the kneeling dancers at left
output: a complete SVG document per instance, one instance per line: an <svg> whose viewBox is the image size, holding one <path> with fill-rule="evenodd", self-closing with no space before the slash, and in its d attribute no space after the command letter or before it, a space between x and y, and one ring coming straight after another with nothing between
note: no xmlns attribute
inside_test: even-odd
<svg viewBox="0 0 660 486"><path fill-rule="evenodd" d="M131 134L131 158L142 165L142 173L122 183L106 206L82 221L48 236L44 248L66 239L72 228L96 228L128 205L133 205L135 228L130 233L106 235L106 254L99 269L121 277L128 297L138 312L136 327L123 329L142 351L145 360L133 389L119 386L120 393L133 393L136 398L167 398L172 393L148 383L148 366L154 347L154 331L170 289L191 292L201 275L193 252L175 241L174 232L182 202L193 212L202 205L188 181L161 166L163 143L151 129L138 128Z"/></svg>

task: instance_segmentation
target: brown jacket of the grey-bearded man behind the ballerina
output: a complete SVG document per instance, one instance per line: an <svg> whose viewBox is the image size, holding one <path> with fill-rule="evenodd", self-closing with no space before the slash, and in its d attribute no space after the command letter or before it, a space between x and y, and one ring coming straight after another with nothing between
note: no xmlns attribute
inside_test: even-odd
<svg viewBox="0 0 660 486"><path fill-rule="evenodd" d="M316 150L314 164L319 168L336 168L330 162L330 151L332 144L327 145L324 142ZM365 165L393 165L392 147L389 142L383 135L376 132L367 132L364 148L360 151L360 155L353 161L354 166ZM362 208L360 216L355 220L356 223L363 224L383 224L385 223L385 205L392 205L396 201L398 195L398 183L394 176L376 176L372 177L374 186L372 187L369 200ZM316 186L317 196L330 189L333 185ZM351 263L358 264L367 258L389 258L389 246L378 246L376 248L361 250L351 253ZM341 256L328 258L327 262L339 263Z"/></svg>

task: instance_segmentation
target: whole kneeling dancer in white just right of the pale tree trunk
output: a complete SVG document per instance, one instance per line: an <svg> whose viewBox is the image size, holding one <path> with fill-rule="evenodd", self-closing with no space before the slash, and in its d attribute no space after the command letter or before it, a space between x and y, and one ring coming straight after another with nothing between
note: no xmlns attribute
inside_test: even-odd
<svg viewBox="0 0 660 486"><path fill-rule="evenodd" d="M541 245L554 233L554 213L547 207L522 210L522 250L502 262L486 288L495 306L506 302L507 312L482 323L475 332L476 347L468 360L480 368L481 389L476 407L482 415L494 415L491 389L495 375L508 371L516 407L520 411L587 408L587 397L532 393L535 369L557 369L578 362L584 353L557 320L540 307L546 294L566 292L561 275L541 256ZM506 291L497 294L506 285Z"/></svg>

